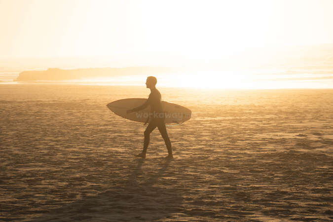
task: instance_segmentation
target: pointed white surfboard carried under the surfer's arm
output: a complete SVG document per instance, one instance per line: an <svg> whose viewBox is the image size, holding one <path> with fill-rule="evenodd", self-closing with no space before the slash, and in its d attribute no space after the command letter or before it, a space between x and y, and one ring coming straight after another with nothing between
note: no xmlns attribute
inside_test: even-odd
<svg viewBox="0 0 333 222"><path fill-rule="evenodd" d="M147 101L143 98L129 98L111 102L107 107L115 114L137 122L147 123L151 119L150 106L142 111L126 113L127 110L141 106ZM170 125L181 124L191 118L191 111L183 106L162 101L164 123ZM150 116L150 117L149 117Z"/></svg>

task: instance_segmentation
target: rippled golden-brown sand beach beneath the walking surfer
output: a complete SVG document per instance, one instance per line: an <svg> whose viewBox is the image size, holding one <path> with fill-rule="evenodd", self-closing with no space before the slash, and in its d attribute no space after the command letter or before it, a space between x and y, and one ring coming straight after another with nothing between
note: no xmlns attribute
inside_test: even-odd
<svg viewBox="0 0 333 222"><path fill-rule="evenodd" d="M333 220L333 90L160 91L171 161L106 107L144 86L0 85L0 220Z"/></svg>

